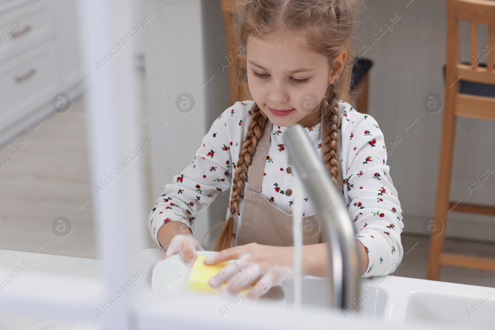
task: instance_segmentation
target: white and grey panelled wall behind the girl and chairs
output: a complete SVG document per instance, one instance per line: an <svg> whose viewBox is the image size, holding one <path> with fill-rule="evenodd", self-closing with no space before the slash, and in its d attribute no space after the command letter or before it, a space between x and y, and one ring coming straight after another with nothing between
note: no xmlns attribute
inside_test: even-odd
<svg viewBox="0 0 495 330"><path fill-rule="evenodd" d="M160 25L146 35L147 62L155 71L147 71L149 116L152 118L151 126L155 126L151 130L157 131L171 119L166 129L157 133L160 142L153 145L153 193L159 195L164 185L192 160L208 125L230 105L226 97L228 77L218 70L216 63L225 52L218 1L201 2L205 23L201 21L201 7L197 1L167 0L160 8L157 6L161 0L144 2L148 8L159 9L158 18L150 26ZM429 93L444 95L445 1L373 0L367 5L369 8L360 13L361 32L357 46L365 42L371 46L364 57L374 61L370 72L368 111L378 121L386 143L394 141L395 137L400 138L388 164L395 187L400 192L399 200L405 214L404 233L424 235L423 222L433 216L435 209L443 111L429 113L422 102ZM148 10L151 9L145 12ZM183 15L187 13L187 20L178 18L181 12ZM366 41L396 13L400 18L391 31L374 45ZM469 27L464 24L462 27L462 35L467 38ZM484 29L479 37L480 50L486 47L486 26ZM469 60L468 48L461 53L462 60ZM200 87L211 76L215 77L201 90ZM198 95L194 115L175 110L175 96L183 91ZM190 123L188 127L184 124L186 122ZM490 165L490 161L495 162L494 124L467 118L458 120L451 201L462 199L463 203L494 204L495 179L489 178L471 195L466 188L489 166L495 169ZM180 139L182 150L178 150L176 140L171 139ZM225 196L217 197L216 205L212 205L210 211L211 222L225 220L226 209L222 205L227 202ZM209 221L203 221L203 216L206 215L198 215L197 225L203 226L199 232L205 232L208 226ZM452 211L448 221L447 236L495 240L492 237L495 232L493 217ZM202 239L202 235L198 237Z"/></svg>

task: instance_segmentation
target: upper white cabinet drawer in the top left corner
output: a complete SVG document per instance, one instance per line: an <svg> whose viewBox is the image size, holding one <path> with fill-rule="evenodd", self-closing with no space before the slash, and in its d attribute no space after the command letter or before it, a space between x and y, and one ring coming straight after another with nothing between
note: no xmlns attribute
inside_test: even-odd
<svg viewBox="0 0 495 330"><path fill-rule="evenodd" d="M26 14L23 16L23 13ZM18 23L19 18L23 20L22 24ZM28 8L16 9L1 16L0 58L53 35L51 21L49 6L42 6L41 4L36 8L29 6Z"/></svg>

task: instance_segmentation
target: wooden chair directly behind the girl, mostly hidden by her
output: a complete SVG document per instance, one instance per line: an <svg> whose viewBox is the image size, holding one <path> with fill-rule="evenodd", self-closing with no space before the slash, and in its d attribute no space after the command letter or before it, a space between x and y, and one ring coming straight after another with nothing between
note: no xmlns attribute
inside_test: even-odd
<svg viewBox="0 0 495 330"><path fill-rule="evenodd" d="M235 30L236 14L234 4L236 0L221 0L222 16L224 17L225 36L227 40L227 56L223 65L228 67L230 75L231 104L237 101L250 99L245 92L247 88L246 51L241 51ZM345 99L361 113L368 113L369 70L373 62L366 58L355 59L352 68L350 95ZM225 70L224 67L224 70Z"/></svg>

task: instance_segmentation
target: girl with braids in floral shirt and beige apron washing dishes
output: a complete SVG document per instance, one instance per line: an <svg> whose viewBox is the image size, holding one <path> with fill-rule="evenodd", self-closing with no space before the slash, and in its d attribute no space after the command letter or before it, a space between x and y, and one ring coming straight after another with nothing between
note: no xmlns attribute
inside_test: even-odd
<svg viewBox="0 0 495 330"><path fill-rule="evenodd" d="M284 130L297 123L307 129L353 219L360 257L355 271L361 277L392 273L402 259L404 228L384 137L373 117L342 100L353 63L355 4L239 0L237 13L253 101L236 102L214 121L191 164L165 186L150 212L151 236L167 250L165 258L180 253L192 265L203 250L191 235L192 220L230 189L227 220L215 226L223 227L215 243L221 252L204 262L236 260L209 284L227 281L222 292L232 296L255 283L247 297L256 299L293 278L292 209L302 202L304 224L311 224L303 233L303 275L326 277L327 246L316 211L304 189L303 200L291 196L295 178ZM262 269L269 275L260 279Z"/></svg>

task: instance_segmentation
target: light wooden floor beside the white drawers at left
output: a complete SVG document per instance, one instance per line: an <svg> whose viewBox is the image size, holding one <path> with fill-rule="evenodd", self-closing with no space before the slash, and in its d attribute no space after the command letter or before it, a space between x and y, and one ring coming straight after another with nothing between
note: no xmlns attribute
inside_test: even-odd
<svg viewBox="0 0 495 330"><path fill-rule="evenodd" d="M140 77L144 81L143 72ZM140 86L143 95L144 84ZM146 103L142 105L145 109ZM146 137L146 111L141 118ZM87 147L87 139L95 137L85 126L84 99L74 100L68 112L55 113L38 125L0 148L3 157L23 137L29 139L21 153L0 168L0 249L36 252L41 248L40 253L98 258ZM145 184L151 187L149 152L143 157ZM155 204L151 192L147 193L145 226ZM72 223L66 237L51 231L52 221L59 216ZM157 247L150 236L147 247Z"/></svg>

